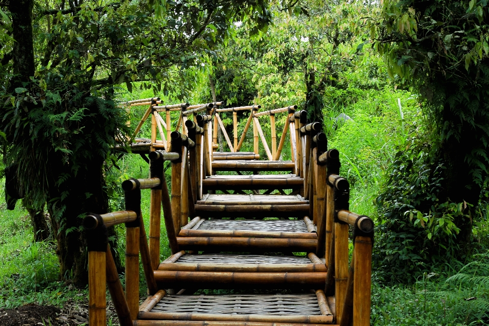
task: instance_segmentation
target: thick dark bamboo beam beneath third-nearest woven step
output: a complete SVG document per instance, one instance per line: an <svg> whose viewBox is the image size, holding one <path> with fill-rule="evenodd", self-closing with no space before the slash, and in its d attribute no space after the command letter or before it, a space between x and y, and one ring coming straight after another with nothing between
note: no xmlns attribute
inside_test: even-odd
<svg viewBox="0 0 489 326"><path fill-rule="evenodd" d="M177 237L178 246L184 250L202 250L212 248L224 251L243 251L243 249L266 251L313 252L316 250L315 239L268 239L240 237Z"/></svg>

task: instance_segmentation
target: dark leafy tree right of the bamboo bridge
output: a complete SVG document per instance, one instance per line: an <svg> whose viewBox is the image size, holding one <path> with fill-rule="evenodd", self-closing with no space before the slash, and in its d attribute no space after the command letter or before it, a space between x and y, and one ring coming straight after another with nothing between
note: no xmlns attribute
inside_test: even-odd
<svg viewBox="0 0 489 326"><path fill-rule="evenodd" d="M419 226L428 237L419 243L428 252L440 252L439 244L443 247L447 242L432 237L424 223L431 227L433 218L438 222L451 216L453 234L458 233L460 248L454 251L458 258L470 248L474 208L489 168L487 10L485 0L388 0L379 21L371 20L369 26L391 78L420 95L428 121L426 132L404 144L398 154L394 170L405 178L392 174L388 185L395 189L383 195L386 210L397 216L391 220L391 230L399 230L399 223L411 215L409 210L418 211L415 221L423 220ZM406 197L399 201L409 198L410 203L399 209L392 196L401 193ZM460 203L458 213L451 213L450 203ZM446 228L444 223L440 226ZM415 247L418 254L420 248Z"/></svg>

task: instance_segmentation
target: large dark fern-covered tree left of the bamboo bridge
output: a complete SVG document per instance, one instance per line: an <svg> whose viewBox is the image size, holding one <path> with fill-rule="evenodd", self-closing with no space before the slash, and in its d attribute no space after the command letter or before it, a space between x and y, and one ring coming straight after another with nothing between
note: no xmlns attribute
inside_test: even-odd
<svg viewBox="0 0 489 326"><path fill-rule="evenodd" d="M86 212L108 208L104 169L125 134L117 85L171 88L170 71L199 63L235 20L262 29L265 1L7 0L0 29L6 165L28 201L48 203L61 276L87 282ZM110 164L112 165L112 164Z"/></svg>

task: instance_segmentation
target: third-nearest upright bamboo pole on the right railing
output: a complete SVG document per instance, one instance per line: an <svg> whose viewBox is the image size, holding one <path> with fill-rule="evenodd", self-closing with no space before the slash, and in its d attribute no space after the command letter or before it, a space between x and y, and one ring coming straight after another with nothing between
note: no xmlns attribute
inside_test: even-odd
<svg viewBox="0 0 489 326"><path fill-rule="evenodd" d="M315 148L317 150L317 148ZM316 255L325 258L326 246L326 215L325 215L325 197L326 197L326 167L317 165L316 156L314 156L316 166L316 188L317 197L315 211L317 211L317 247Z"/></svg>

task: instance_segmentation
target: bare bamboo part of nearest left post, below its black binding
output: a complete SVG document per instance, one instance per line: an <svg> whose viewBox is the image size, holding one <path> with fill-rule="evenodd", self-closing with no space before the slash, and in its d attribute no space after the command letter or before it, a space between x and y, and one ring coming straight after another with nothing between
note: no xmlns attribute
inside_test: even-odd
<svg viewBox="0 0 489 326"><path fill-rule="evenodd" d="M105 252L88 252L88 315L90 325L105 326Z"/></svg>

